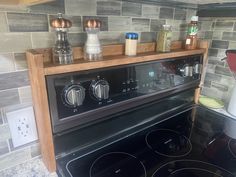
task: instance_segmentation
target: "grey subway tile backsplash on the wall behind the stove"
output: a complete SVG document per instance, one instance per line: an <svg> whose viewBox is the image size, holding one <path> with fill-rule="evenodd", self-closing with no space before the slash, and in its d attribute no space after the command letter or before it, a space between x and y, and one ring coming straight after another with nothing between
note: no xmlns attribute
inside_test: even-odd
<svg viewBox="0 0 236 177"><path fill-rule="evenodd" d="M101 20L99 37L103 45L108 45L124 43L124 34L131 31L139 34L141 42L153 42L163 24L173 26L173 39L183 39L189 16L196 14L195 10L136 2L57 0L22 9L0 8L0 176L8 174L1 173L7 166L17 165L40 155L38 142L17 149L9 146L11 135L5 112L32 105L25 51L54 45L55 30L50 27L50 21L57 13L64 14L73 23L68 35L73 46L84 45L86 33L83 24L91 18ZM211 34L208 36L210 38ZM232 41L229 45L233 46ZM218 48L215 50L218 52Z"/></svg>

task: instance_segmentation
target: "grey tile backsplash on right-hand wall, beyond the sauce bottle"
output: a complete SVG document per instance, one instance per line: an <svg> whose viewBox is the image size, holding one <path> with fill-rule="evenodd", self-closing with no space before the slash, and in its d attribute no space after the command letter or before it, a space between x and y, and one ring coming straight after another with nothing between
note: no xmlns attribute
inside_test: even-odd
<svg viewBox="0 0 236 177"><path fill-rule="evenodd" d="M227 49L236 49L236 18L200 18L202 38L211 43L202 94L221 99L227 105L235 84L226 61Z"/></svg>

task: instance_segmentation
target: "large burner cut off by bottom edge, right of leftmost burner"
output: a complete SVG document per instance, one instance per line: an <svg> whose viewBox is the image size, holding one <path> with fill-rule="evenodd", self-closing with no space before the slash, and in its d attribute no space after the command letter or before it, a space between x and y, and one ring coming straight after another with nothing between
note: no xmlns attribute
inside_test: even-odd
<svg viewBox="0 0 236 177"><path fill-rule="evenodd" d="M206 162L179 160L161 166L152 177L234 177L234 175Z"/></svg>

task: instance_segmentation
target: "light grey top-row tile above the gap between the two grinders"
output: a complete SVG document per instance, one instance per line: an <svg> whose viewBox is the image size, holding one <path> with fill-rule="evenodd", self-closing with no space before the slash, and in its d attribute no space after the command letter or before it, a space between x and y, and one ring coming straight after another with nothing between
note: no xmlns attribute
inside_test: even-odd
<svg viewBox="0 0 236 177"><path fill-rule="evenodd" d="M65 0L67 15L96 15L96 0Z"/></svg>

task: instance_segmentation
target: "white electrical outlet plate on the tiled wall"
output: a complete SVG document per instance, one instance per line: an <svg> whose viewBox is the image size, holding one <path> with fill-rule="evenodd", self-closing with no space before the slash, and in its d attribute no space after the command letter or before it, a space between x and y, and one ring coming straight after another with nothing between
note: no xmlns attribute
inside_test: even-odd
<svg viewBox="0 0 236 177"><path fill-rule="evenodd" d="M38 139L33 107L8 112L6 116L15 148Z"/></svg>

